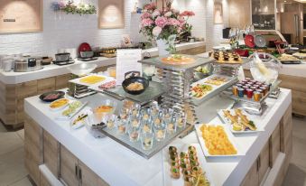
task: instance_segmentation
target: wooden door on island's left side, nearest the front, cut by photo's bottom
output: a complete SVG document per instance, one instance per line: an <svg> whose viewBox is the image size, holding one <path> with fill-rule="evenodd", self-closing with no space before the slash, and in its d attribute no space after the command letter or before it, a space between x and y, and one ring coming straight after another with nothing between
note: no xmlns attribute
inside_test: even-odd
<svg viewBox="0 0 306 186"><path fill-rule="evenodd" d="M108 186L106 181L100 179L86 164L79 161L79 182L81 186Z"/></svg>

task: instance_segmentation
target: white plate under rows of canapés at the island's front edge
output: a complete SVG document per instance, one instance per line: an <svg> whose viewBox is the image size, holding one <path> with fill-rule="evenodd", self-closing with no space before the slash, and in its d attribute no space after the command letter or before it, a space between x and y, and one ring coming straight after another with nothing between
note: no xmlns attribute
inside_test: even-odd
<svg viewBox="0 0 306 186"><path fill-rule="evenodd" d="M175 146L178 149L179 155L181 152L185 152L185 153L188 152L189 146L196 147L197 155L199 158L199 167L202 168L203 172L206 172L205 175L207 179L209 180L210 185L211 186L214 185L211 179L212 177L209 174L208 164L206 162L206 159L204 157L204 154L199 144L172 144L172 145L168 145L167 147L163 148L162 150L163 185L166 185L166 186L183 186L184 185L182 173L179 179L173 179L171 177L171 173L170 173L171 166L169 163L169 146Z"/></svg>

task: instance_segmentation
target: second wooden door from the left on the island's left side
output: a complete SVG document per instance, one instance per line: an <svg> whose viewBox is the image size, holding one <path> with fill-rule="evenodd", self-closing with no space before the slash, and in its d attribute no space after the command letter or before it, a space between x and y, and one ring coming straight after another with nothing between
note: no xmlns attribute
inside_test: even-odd
<svg viewBox="0 0 306 186"><path fill-rule="evenodd" d="M47 131L43 131L43 163L46 164L52 174L58 178L60 172L59 164L60 143Z"/></svg>

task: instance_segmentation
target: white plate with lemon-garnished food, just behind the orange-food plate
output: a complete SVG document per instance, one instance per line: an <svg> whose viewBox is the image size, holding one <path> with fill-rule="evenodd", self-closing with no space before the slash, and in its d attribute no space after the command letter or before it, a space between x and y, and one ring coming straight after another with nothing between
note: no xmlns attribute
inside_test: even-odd
<svg viewBox="0 0 306 186"><path fill-rule="evenodd" d="M242 110L242 113L244 115L246 115L249 120L254 122L255 126L257 127L257 130L255 130L255 131L252 131L252 130L235 131L235 130L233 130L233 125L231 124L231 121L226 116L224 116L223 110L229 110L232 115L235 115L235 110L234 109L221 109L221 110L218 110L218 116L220 117L222 122L227 124L227 126L229 127L230 131L233 134L250 134L250 133L259 133L259 132L263 132L264 131L264 128L263 128L263 126L260 125L260 122L258 122L255 119L254 116L251 116L251 115L247 114L244 110Z"/></svg>

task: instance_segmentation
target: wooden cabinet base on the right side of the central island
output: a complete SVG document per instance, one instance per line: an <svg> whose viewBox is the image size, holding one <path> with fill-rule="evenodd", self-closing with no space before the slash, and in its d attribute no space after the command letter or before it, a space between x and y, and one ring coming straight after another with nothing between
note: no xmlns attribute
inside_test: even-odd
<svg viewBox="0 0 306 186"><path fill-rule="evenodd" d="M241 185L282 185L291 158L292 106L287 108Z"/></svg>

